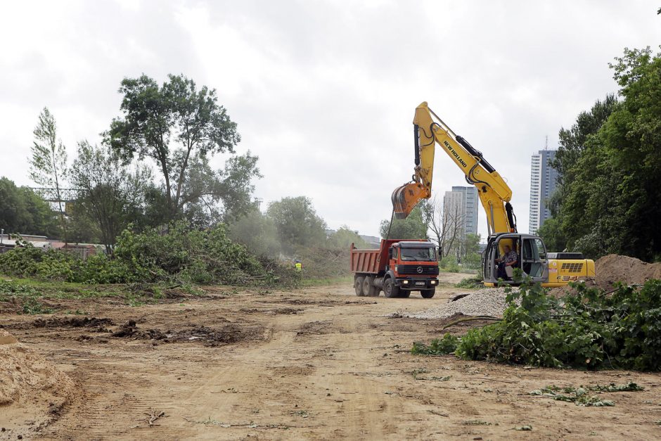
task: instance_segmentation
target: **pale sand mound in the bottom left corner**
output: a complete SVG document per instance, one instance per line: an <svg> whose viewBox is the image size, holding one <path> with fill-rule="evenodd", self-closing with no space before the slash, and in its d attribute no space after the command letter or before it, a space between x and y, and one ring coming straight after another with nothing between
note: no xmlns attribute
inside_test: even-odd
<svg viewBox="0 0 661 441"><path fill-rule="evenodd" d="M75 392L68 375L3 330L0 361L0 438L24 437L47 426Z"/></svg>

